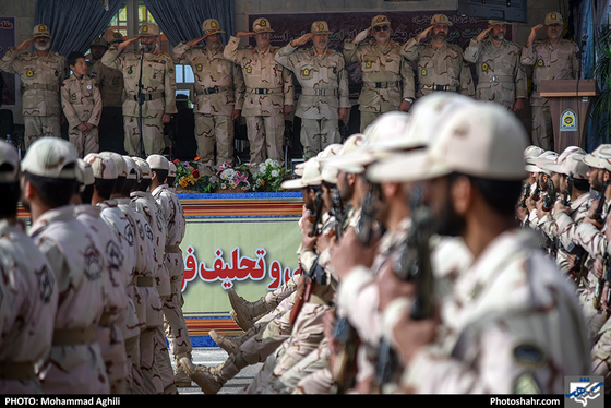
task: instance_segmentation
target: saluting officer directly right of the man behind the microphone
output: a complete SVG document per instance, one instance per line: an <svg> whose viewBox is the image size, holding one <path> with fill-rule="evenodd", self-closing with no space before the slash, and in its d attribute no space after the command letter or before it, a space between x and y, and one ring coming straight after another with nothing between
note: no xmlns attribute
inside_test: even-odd
<svg viewBox="0 0 611 408"><path fill-rule="evenodd" d="M214 175L224 163L233 163L233 121L240 117L244 103L244 80L240 68L223 57L220 25L208 19L203 24L204 35L189 43L180 43L172 50L179 63L188 63L195 76L195 141L200 170ZM204 47L196 47L200 41ZM216 145L217 157L214 151Z"/></svg>

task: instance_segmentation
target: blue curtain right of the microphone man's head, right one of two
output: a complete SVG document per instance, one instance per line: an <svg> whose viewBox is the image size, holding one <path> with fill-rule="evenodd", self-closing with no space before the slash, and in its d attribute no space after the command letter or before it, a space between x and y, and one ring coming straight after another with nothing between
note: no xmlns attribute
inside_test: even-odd
<svg viewBox="0 0 611 408"><path fill-rule="evenodd" d="M168 37L171 46L202 36L202 23L216 19L223 41L233 34L233 0L144 0L146 8Z"/></svg>

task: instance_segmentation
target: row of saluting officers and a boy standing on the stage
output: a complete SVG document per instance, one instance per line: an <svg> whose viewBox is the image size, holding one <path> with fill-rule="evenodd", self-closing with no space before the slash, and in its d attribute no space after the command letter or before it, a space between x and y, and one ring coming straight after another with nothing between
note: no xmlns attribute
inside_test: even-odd
<svg viewBox="0 0 611 408"><path fill-rule="evenodd" d="M388 19L376 15L370 27L346 39L342 53L327 47L331 32L324 21L314 22L310 33L278 49L269 45L274 31L267 19L257 19L252 32L236 33L227 45L221 43L218 21L208 19L202 37L179 44L170 56L158 48L159 27L146 23L134 38L125 40L115 33L109 41L95 39L86 74L65 82L65 60L49 51L49 29L38 25L33 38L7 51L0 70L21 76L26 146L41 135L60 134L63 106L71 140L93 139L91 148L95 149L99 133L103 140L112 139L108 143L115 151L123 147L124 133L124 148L134 155L140 153L142 129L144 153L149 155L164 149L164 124L177 112L175 63L189 64L195 79L196 155L207 172L232 161L233 120L240 116L245 119L250 160L284 161L285 116L293 111L293 76L301 85L295 115L301 118L300 140L304 157L310 158L340 141L338 121L350 109L346 64L358 63L362 72L361 131L381 113L408 111L416 98L439 91L518 111L528 97L525 67L530 65L532 142L553 149L549 105L540 97L538 84L578 75L578 47L562 39L563 24L560 13L547 14L544 24L532 27L523 47L505 39L508 24L490 21L463 50L447 43L453 23L446 15L433 15L430 26L404 45L391 39ZM535 41L541 29L547 38ZM373 38L366 40L370 35ZM254 37L256 45L240 48L243 37ZM302 47L310 40L312 46ZM136 41L140 49L130 50ZM34 52L23 52L31 44ZM476 67L477 89L469 63ZM97 100L85 103L85 98ZM117 123L123 124L118 133L104 128ZM88 153L87 144L79 143Z"/></svg>

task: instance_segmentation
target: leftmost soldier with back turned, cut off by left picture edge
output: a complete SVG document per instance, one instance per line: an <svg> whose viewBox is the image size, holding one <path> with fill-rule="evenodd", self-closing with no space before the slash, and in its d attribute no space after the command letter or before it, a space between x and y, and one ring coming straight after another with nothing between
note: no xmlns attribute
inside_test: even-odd
<svg viewBox="0 0 611 408"><path fill-rule="evenodd" d="M20 159L0 142L0 392L40 394L35 364L51 350L58 286L50 265L17 221Z"/></svg>

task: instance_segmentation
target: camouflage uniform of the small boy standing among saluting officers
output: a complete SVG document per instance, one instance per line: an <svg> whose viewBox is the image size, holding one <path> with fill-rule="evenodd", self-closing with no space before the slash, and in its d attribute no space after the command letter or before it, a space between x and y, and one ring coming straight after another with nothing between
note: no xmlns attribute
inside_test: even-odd
<svg viewBox="0 0 611 408"><path fill-rule="evenodd" d="M88 75L77 79L70 75L61 84L61 106L68 120L68 137L76 148L79 157L99 152L98 124L101 115L101 96L97 83ZM93 124L92 130L83 132L82 123Z"/></svg>

